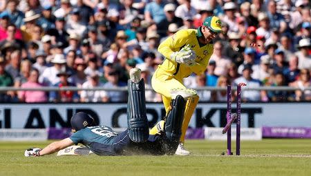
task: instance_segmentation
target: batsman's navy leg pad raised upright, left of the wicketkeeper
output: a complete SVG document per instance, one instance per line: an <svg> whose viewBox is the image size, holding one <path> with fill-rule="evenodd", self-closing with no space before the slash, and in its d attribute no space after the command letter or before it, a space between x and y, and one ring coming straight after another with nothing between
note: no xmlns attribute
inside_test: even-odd
<svg viewBox="0 0 311 176"><path fill-rule="evenodd" d="M134 142L147 141L149 137L149 126L146 113L146 101L144 95L144 79L138 84L129 80L129 100L128 100L128 128L129 137Z"/></svg>

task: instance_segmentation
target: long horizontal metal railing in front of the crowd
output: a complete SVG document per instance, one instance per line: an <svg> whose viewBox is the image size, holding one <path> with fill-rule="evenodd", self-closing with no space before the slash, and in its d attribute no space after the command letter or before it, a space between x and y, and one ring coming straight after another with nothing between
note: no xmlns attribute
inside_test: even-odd
<svg viewBox="0 0 311 176"><path fill-rule="evenodd" d="M205 87L198 87L194 88L195 90L209 90L209 91L222 91L222 90L227 90L227 87L211 87L211 86L205 86ZM50 92L50 91L81 91L81 90L86 90L86 91L97 91L97 90L104 90L104 91L127 91L127 87L120 87L120 88L103 88L103 87L94 87L94 88L77 88L73 86L68 86L68 87L41 87L41 88L16 88L16 87L0 87L0 92L8 92L8 91L45 91L45 92ZM152 88L146 88L146 90L153 90ZM233 88L233 90L235 90ZM310 87L305 87L305 88L294 88L294 87L289 87L289 86L260 86L260 87L243 87L243 91L245 90L271 90L271 91L295 91L295 90L311 90Z"/></svg>

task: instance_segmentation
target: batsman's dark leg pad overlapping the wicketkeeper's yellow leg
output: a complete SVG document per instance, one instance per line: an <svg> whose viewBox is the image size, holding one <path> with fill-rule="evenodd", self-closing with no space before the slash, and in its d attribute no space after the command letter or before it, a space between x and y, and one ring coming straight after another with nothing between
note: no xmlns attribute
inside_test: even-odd
<svg viewBox="0 0 311 176"><path fill-rule="evenodd" d="M173 99L171 102L172 108L167 115L164 128L164 148L168 155L173 155L178 147L182 121L184 120L185 104L185 99L180 95L178 95L176 99Z"/></svg>

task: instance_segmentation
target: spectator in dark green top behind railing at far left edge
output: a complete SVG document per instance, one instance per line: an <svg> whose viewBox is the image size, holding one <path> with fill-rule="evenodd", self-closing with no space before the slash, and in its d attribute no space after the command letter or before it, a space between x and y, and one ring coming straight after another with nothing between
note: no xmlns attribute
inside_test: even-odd
<svg viewBox="0 0 311 176"><path fill-rule="evenodd" d="M6 60L0 57L0 87L13 86L13 79L10 73L6 72ZM10 92L0 93L0 101L8 102L10 101Z"/></svg>

